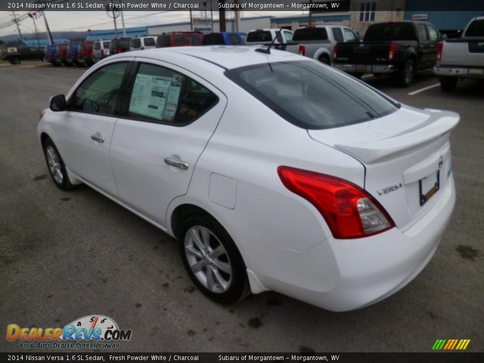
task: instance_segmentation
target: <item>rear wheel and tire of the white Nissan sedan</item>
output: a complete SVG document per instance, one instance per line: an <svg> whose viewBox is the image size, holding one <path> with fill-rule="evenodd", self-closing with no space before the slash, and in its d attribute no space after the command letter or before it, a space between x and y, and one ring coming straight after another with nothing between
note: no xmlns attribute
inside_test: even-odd
<svg viewBox="0 0 484 363"><path fill-rule="evenodd" d="M189 215L181 228L179 250L193 283L210 299L229 305L248 295L244 260L230 235L212 217Z"/></svg>

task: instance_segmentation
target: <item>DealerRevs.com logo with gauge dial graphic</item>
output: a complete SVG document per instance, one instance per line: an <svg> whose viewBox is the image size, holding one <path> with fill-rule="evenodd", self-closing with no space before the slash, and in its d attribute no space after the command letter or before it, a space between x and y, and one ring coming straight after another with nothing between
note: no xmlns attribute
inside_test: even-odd
<svg viewBox="0 0 484 363"><path fill-rule="evenodd" d="M104 315L88 315L74 320L64 328L21 328L7 326L7 340L19 340L22 349L96 349L117 348L119 341L131 339L132 330L119 329L116 322Z"/></svg>

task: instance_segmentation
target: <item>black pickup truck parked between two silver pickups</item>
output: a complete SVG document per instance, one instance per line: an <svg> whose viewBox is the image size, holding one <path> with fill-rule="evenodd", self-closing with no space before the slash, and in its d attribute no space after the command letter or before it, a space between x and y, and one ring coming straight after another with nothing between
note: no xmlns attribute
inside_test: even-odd
<svg viewBox="0 0 484 363"><path fill-rule="evenodd" d="M432 70L442 36L428 22L399 21L370 25L361 42L338 43L334 67L353 76L393 74L408 87L416 71Z"/></svg>

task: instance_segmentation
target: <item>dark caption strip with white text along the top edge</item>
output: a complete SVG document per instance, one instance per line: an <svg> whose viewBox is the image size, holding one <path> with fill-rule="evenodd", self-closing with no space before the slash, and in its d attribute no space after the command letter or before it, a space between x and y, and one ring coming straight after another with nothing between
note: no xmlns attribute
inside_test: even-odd
<svg viewBox="0 0 484 363"><path fill-rule="evenodd" d="M354 4L351 4L351 3ZM362 1L359 0L274 0L245 1L228 0L217 2L212 0L18 0L0 2L0 11L303 11L312 10L315 13L347 13L358 10ZM396 3L398 3L396 5ZM402 5L403 9L401 8ZM398 9L397 9L398 8ZM378 11L482 11L484 1L460 0L456 2L379 0Z"/></svg>

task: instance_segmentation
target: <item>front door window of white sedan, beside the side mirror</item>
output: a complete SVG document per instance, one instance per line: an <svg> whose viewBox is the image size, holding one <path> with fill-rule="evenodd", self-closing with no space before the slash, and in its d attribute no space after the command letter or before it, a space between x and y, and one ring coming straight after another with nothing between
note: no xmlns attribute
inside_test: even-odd
<svg viewBox="0 0 484 363"><path fill-rule="evenodd" d="M127 62L111 64L90 75L71 98L70 110L115 114Z"/></svg>

